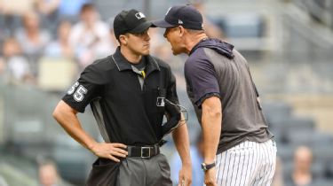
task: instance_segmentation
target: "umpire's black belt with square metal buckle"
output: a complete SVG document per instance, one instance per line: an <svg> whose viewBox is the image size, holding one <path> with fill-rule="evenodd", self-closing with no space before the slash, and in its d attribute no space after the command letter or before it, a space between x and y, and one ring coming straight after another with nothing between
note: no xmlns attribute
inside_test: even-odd
<svg viewBox="0 0 333 186"><path fill-rule="evenodd" d="M127 157L139 157L142 159L150 159L160 153L160 146L155 144L153 146L127 146Z"/></svg>

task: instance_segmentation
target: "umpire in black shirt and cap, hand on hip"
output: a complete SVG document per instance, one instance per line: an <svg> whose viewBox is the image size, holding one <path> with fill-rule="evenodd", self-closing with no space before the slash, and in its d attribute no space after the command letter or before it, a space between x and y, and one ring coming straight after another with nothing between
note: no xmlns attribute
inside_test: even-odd
<svg viewBox="0 0 333 186"><path fill-rule="evenodd" d="M179 126L172 136L182 159L179 179L191 184L186 125L180 112L170 66L149 55L151 22L137 10L120 12L114 20L120 43L113 55L87 66L53 112L53 117L78 143L99 157L87 185L171 185L170 167L160 153L163 126ZM168 102L169 103L169 102ZM81 127L77 112L87 105L106 143L96 142ZM163 115L168 121L163 125ZM173 128L173 127L171 127Z"/></svg>

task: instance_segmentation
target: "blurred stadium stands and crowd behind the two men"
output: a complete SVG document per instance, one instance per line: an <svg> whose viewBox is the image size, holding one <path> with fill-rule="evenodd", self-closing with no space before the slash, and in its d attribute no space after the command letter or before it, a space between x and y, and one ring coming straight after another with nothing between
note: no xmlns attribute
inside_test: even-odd
<svg viewBox="0 0 333 186"><path fill-rule="evenodd" d="M58 127L52 109L85 66L114 52L116 13L136 8L153 19L188 3L202 12L210 37L249 59L278 144L273 185L333 185L332 1L0 0L0 186L47 185L47 176L83 185L94 157ZM186 57L172 56L162 32L150 30L151 53L177 77L196 148L200 127L186 97ZM101 139L92 114L80 118ZM172 143L163 148L174 152Z"/></svg>

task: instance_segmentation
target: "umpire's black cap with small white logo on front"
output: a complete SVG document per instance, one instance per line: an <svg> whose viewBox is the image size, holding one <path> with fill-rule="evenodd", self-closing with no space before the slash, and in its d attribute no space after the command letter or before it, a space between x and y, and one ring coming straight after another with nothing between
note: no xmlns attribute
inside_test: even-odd
<svg viewBox="0 0 333 186"><path fill-rule="evenodd" d="M120 12L115 16L114 32L115 38L119 39L119 35L126 33L140 34L152 26L147 20L145 14L135 9Z"/></svg>

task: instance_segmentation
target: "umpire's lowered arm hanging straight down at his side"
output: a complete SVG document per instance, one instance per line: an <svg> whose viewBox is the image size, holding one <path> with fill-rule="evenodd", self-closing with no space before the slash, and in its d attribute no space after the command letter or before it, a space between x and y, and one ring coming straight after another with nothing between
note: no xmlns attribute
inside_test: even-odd
<svg viewBox="0 0 333 186"><path fill-rule="evenodd" d="M190 157L190 143L185 120L181 116L180 126L172 132L172 138L180 156L182 167L179 171L178 185L191 185L192 182L192 164Z"/></svg>

